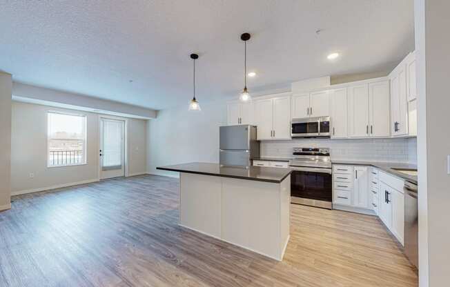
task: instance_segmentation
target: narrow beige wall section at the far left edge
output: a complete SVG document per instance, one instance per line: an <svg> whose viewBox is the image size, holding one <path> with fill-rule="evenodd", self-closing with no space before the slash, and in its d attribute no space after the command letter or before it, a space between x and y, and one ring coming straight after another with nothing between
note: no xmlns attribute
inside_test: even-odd
<svg viewBox="0 0 450 287"><path fill-rule="evenodd" d="M0 210L11 206L11 75L0 72Z"/></svg>

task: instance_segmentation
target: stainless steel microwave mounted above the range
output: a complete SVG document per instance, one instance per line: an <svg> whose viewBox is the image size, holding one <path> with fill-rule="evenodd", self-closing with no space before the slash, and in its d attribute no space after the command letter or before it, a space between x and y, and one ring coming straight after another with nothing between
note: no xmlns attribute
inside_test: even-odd
<svg viewBox="0 0 450 287"><path fill-rule="evenodd" d="M293 119L291 126L291 137L330 137L330 117Z"/></svg>

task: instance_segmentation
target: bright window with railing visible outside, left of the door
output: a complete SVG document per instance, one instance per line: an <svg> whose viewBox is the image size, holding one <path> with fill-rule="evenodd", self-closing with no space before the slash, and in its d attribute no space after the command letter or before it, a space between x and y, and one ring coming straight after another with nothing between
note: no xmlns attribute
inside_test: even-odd
<svg viewBox="0 0 450 287"><path fill-rule="evenodd" d="M86 116L48 112L48 166L86 164Z"/></svg>

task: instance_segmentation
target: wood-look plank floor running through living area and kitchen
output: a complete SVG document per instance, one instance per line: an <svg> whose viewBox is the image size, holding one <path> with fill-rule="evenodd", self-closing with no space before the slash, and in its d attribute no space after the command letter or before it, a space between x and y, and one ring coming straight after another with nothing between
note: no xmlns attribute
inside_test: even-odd
<svg viewBox="0 0 450 287"><path fill-rule="evenodd" d="M292 205L282 262L177 226L178 183L112 179L13 198L0 286L417 286L375 217Z"/></svg>

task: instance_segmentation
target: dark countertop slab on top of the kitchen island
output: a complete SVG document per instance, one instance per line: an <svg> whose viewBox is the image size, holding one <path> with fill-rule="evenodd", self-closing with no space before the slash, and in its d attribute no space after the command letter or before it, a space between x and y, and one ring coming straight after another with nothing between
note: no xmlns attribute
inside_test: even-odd
<svg viewBox="0 0 450 287"><path fill-rule="evenodd" d="M197 175L212 175L216 177L231 177L233 179L248 179L280 184L288 175L291 168L268 168L265 166L250 166L246 168L221 167L219 164L205 162L190 162L173 166L159 166L157 170L194 173Z"/></svg>

